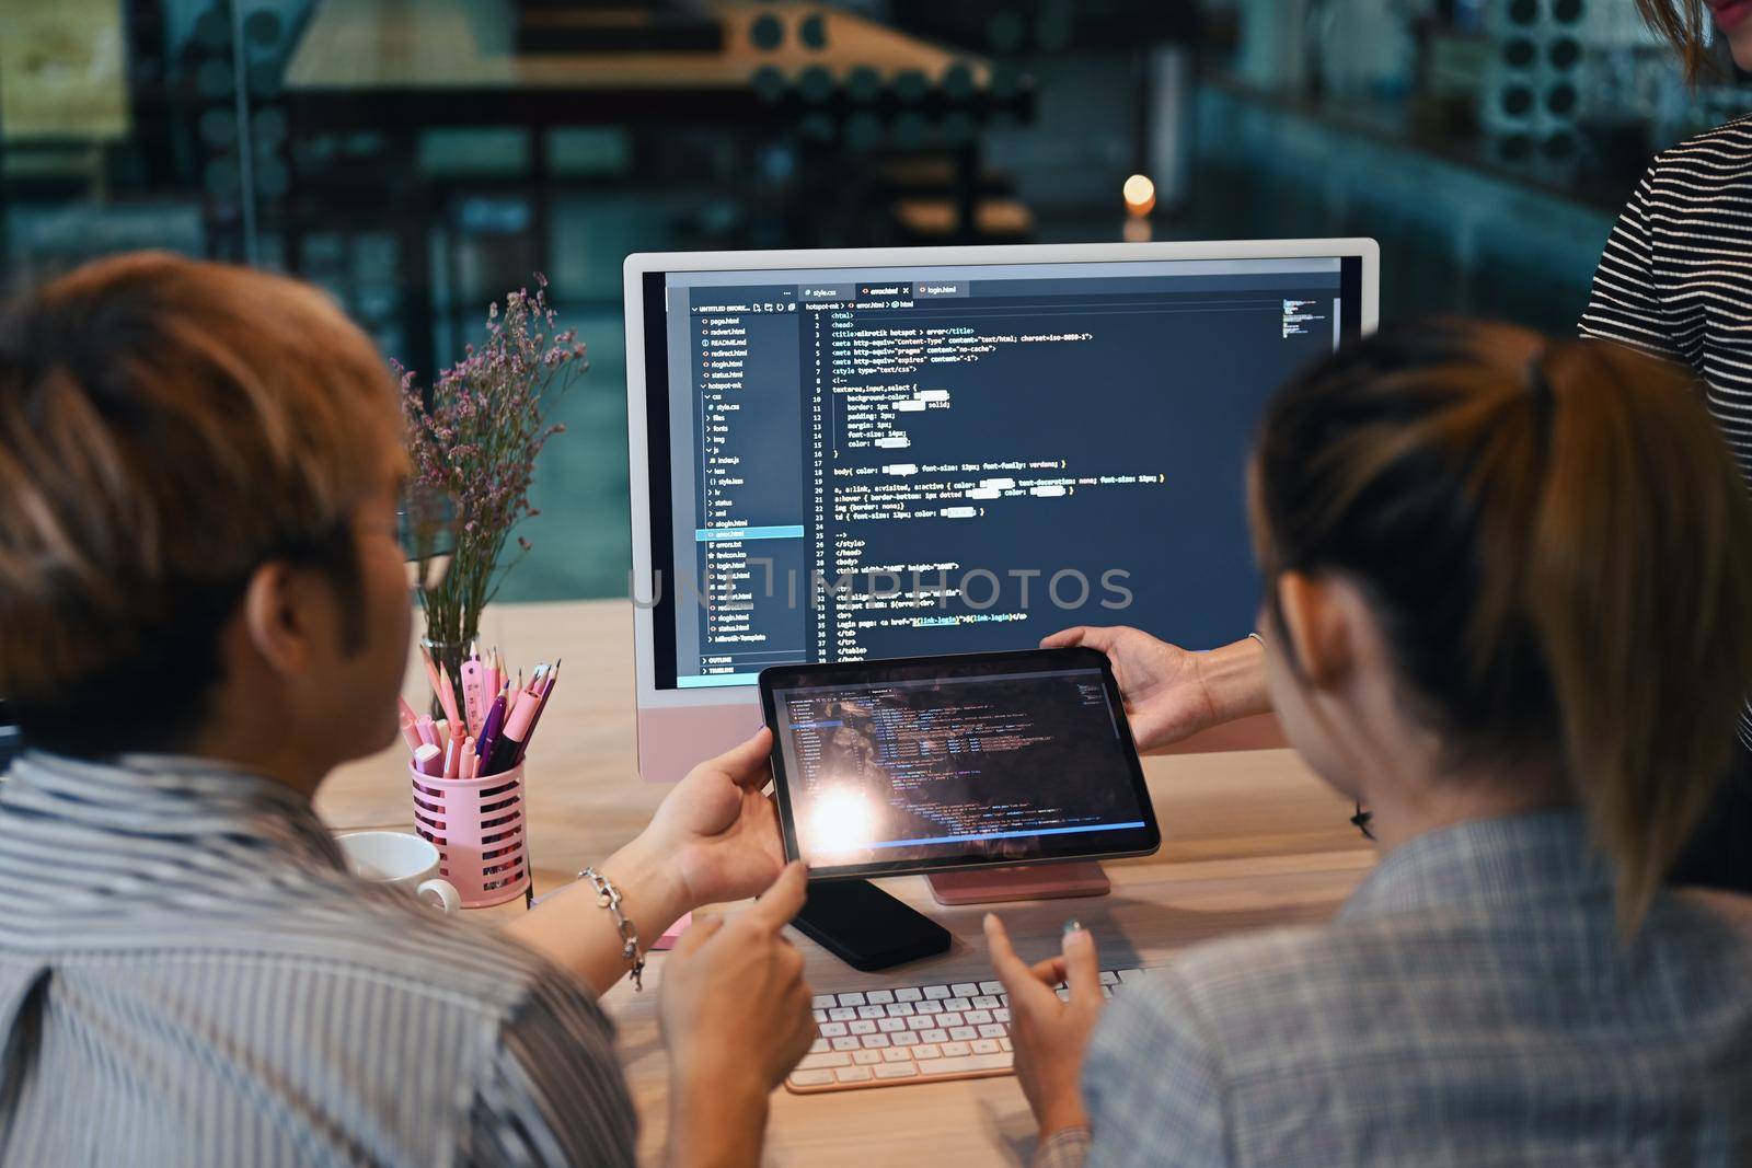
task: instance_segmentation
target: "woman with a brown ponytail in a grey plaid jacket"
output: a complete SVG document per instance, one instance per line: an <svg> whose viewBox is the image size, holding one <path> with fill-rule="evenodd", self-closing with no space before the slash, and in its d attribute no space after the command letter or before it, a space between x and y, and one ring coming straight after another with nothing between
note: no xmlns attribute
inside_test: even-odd
<svg viewBox="0 0 1752 1168"><path fill-rule="evenodd" d="M1752 692L1752 503L1689 380L1384 331L1274 399L1253 525L1272 707L1384 856L1109 1007L1088 932L1030 970L988 918L1037 1163L1752 1163L1752 898L1668 881Z"/></svg>

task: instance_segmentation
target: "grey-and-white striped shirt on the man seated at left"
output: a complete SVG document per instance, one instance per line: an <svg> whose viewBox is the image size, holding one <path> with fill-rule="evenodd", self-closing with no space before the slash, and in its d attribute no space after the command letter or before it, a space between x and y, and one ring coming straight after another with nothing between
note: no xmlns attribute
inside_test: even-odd
<svg viewBox="0 0 1752 1168"><path fill-rule="evenodd" d="M631 1164L608 1021L343 870L307 799L26 753L0 792L0 1163Z"/></svg>

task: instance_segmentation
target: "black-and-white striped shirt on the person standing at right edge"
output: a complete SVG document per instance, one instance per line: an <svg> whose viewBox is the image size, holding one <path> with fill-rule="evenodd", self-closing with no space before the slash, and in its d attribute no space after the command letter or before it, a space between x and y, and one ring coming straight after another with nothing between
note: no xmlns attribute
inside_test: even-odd
<svg viewBox="0 0 1752 1168"><path fill-rule="evenodd" d="M1752 116L1654 159L1600 256L1582 334L1689 364L1752 483ZM1752 707L1740 741L1752 749Z"/></svg>

